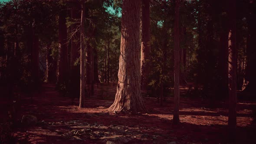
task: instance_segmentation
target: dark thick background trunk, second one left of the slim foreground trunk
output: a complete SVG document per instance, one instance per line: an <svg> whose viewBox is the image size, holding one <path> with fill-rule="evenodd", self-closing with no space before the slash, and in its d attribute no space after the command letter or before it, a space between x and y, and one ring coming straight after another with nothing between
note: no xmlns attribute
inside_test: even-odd
<svg viewBox="0 0 256 144"><path fill-rule="evenodd" d="M66 84L68 69L66 10L61 10L59 13L58 84Z"/></svg>

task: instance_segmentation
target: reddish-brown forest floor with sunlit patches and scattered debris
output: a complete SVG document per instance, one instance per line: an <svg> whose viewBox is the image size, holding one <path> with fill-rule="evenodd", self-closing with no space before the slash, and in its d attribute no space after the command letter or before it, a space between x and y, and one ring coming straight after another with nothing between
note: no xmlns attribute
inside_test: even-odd
<svg viewBox="0 0 256 144"><path fill-rule="evenodd" d="M86 98L86 108L78 108L79 99L62 97L55 85L43 84L41 92L21 98L19 118L34 115L35 126L17 128L14 137L20 144L227 144L228 110L225 102L181 97L180 121L172 125L173 98L160 106L157 98L145 97L148 113L141 115L109 113L116 86L102 84L95 96ZM2 105L3 106L3 105ZM236 141L253 144L256 102L237 104ZM253 122L254 121L254 122ZM254 143L255 144L255 143Z"/></svg>

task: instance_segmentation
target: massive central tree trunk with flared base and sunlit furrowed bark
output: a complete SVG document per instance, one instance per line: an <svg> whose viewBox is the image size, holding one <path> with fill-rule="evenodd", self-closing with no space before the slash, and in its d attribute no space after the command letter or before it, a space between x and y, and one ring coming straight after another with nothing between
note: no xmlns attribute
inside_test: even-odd
<svg viewBox="0 0 256 144"><path fill-rule="evenodd" d="M139 31L140 1L123 0L118 85L115 101L108 108L109 111L146 111L141 96Z"/></svg>

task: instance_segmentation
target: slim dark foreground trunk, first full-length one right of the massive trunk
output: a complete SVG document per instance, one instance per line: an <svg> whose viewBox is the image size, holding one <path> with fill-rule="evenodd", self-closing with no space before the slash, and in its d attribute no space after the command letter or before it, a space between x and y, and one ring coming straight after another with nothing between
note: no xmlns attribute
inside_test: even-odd
<svg viewBox="0 0 256 144"><path fill-rule="evenodd" d="M176 0L174 21L174 117L173 124L180 121L180 35L179 35L180 0Z"/></svg>

